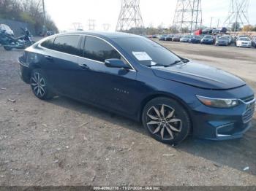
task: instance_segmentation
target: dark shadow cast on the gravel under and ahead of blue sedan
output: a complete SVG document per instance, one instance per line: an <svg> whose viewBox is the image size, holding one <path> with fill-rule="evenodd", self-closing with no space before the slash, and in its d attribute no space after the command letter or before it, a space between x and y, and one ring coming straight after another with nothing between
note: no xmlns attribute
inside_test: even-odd
<svg viewBox="0 0 256 191"><path fill-rule="evenodd" d="M49 102L66 109L72 109L75 112L89 114L92 117L108 121L113 125L120 125L129 130L134 130L137 133L148 135L140 122L134 122L89 104L83 104L64 97L54 98ZM239 171L244 171L244 168L249 167L249 169L244 172L256 175L255 146L256 120L252 120L252 128L245 133L242 139L208 141L189 136L184 142L176 146L176 149L181 152L187 152L191 155L211 160L218 168L222 168L226 165L231 168L236 168Z"/></svg>

